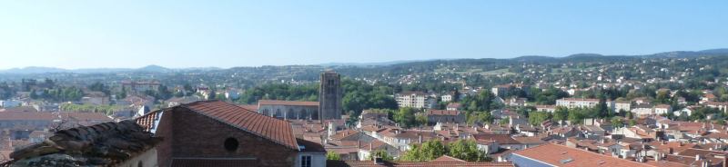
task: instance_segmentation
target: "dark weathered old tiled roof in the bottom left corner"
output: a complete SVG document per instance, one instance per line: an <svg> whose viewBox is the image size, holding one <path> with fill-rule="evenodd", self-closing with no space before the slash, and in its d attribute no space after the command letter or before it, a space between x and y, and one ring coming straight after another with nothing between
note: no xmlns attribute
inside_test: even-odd
<svg viewBox="0 0 728 167"><path fill-rule="evenodd" d="M59 131L45 142L12 152L11 165L114 166L147 151L160 140L132 121L81 126Z"/></svg>

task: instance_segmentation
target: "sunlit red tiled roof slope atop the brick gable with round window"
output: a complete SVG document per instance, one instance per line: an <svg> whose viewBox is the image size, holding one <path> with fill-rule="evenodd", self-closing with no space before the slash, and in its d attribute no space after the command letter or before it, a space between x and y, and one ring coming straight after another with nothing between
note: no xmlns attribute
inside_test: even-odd
<svg viewBox="0 0 728 167"><path fill-rule="evenodd" d="M222 101L198 101L177 107L208 116L248 133L271 140L298 151L296 137L290 123L256 113L233 103Z"/></svg>

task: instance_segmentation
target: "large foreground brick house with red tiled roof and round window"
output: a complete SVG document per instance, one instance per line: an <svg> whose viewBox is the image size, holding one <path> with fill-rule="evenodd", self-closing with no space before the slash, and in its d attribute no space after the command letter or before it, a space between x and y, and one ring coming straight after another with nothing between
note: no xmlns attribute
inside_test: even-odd
<svg viewBox="0 0 728 167"><path fill-rule="evenodd" d="M297 139L291 123L233 103L181 104L136 123L164 139L156 147L159 166L326 165L323 146Z"/></svg>

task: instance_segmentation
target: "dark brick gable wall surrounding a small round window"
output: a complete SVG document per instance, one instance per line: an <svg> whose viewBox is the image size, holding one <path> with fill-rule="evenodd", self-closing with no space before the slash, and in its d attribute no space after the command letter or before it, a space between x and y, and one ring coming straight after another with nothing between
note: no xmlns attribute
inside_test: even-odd
<svg viewBox="0 0 728 167"><path fill-rule="evenodd" d="M159 145L159 166L168 166L173 157L255 157L258 162L256 166L292 166L298 153L276 142L182 108L163 114L157 135L165 137L165 141ZM228 137L238 140L238 151L225 150L223 143Z"/></svg>

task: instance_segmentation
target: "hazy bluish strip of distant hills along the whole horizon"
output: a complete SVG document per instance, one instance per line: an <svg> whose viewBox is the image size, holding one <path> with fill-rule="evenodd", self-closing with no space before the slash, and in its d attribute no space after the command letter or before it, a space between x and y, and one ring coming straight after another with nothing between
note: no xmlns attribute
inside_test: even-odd
<svg viewBox="0 0 728 167"><path fill-rule="evenodd" d="M564 57L554 57L546 55L524 55L510 59L494 59L494 58L466 58L466 59L431 59L431 60L405 60L391 61L380 63L329 63L314 65L283 65L279 67L293 68L299 66L316 66L323 68L336 68L339 70L350 68L359 70L359 67L371 68L377 67L377 71L388 72L391 70L410 70L410 66L419 66L422 69L436 68L439 64L461 64L461 65L488 65L488 64L513 64L513 63L589 63L604 61L632 61L643 58L684 58L694 56L728 56L728 48L709 49L703 51L673 51L657 54L644 55L603 55L603 54L571 54ZM266 67L266 66L263 66ZM273 67L273 66L269 66ZM381 68L380 68L381 67ZM233 67L229 70L248 69L247 67ZM268 69L268 68L264 68ZM46 73L74 73L74 74L97 74L97 73L117 73L117 72L145 72L145 73L171 73L184 71L216 71L227 70L217 67L193 67L193 68L167 68L159 65L147 65L141 68L87 68L87 69L62 69L54 67L28 66L24 68L13 68L0 70L0 74L46 74ZM404 73L405 71L402 71Z"/></svg>

